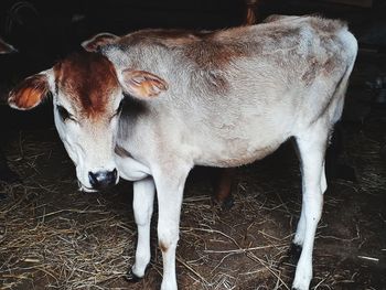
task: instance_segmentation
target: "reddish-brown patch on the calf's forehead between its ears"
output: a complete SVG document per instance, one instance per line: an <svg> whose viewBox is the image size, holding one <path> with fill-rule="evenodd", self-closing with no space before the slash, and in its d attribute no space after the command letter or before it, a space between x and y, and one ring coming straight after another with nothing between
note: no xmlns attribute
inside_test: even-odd
<svg viewBox="0 0 386 290"><path fill-rule="evenodd" d="M56 90L71 96L71 101L87 117L98 117L108 108L118 88L114 65L96 53L76 53L54 66Z"/></svg>

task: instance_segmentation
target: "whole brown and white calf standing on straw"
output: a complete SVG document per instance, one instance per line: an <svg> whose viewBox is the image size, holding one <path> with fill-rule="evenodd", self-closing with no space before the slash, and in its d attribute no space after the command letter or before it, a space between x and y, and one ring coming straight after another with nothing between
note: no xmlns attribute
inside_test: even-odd
<svg viewBox="0 0 386 290"><path fill-rule="evenodd" d="M194 165L238 167L293 137L303 203L293 288L308 289L326 189L324 152L342 114L357 42L344 23L314 17L192 33L101 34L11 92L18 109L51 92L57 131L81 187L133 181L138 246L132 272L150 260L157 190L161 289L176 289L175 248L185 179Z"/></svg>

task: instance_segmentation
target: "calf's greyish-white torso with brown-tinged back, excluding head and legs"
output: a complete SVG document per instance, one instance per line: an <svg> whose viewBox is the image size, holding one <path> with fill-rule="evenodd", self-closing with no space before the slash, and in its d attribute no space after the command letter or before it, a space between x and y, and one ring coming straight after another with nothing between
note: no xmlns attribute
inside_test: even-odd
<svg viewBox="0 0 386 290"><path fill-rule="evenodd" d="M133 138L128 127L136 127L153 131L156 146L184 144L195 164L251 162L317 120L332 126L340 118L344 94L337 87L345 87L356 50L345 23L314 17L216 32L128 34L101 53L118 71L161 76L169 89L146 101L152 121L131 110L122 115L118 142Z"/></svg>

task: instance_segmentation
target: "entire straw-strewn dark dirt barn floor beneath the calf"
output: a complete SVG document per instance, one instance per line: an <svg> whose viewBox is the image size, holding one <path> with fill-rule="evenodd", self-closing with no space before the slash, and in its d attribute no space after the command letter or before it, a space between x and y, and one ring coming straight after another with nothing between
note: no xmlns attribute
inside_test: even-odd
<svg viewBox="0 0 386 290"><path fill-rule="evenodd" d="M353 73L341 161L354 168L357 181L329 182L313 289L386 289L386 105L365 84L386 75L385 65L379 55L361 53ZM157 213L146 278L135 284L124 279L136 245L130 183L78 192L52 123L13 131L4 150L22 182L0 185L0 289L159 288ZM195 169L185 189L180 289L290 289L290 243L301 202L294 154L283 147L238 169L230 210L211 203L207 175L207 169Z"/></svg>

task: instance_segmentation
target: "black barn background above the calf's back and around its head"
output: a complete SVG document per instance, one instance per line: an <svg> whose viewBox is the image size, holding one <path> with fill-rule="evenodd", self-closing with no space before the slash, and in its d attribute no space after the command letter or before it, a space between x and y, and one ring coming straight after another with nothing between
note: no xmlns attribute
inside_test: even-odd
<svg viewBox="0 0 386 290"><path fill-rule="evenodd" d="M6 105L8 92L24 77L82 50L81 42L89 36L99 32L122 35L143 28L224 29L243 24L246 7L245 0L1 0L0 36L19 51L0 55L1 133L7 136L7 131L20 127L52 126L49 101L20 112ZM257 22L272 13L343 19L358 39L361 50L386 52L385 1L260 0L254 10Z"/></svg>

